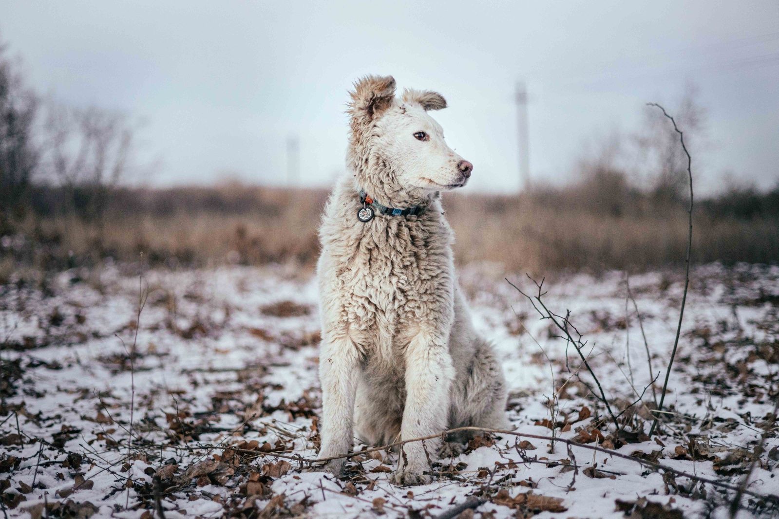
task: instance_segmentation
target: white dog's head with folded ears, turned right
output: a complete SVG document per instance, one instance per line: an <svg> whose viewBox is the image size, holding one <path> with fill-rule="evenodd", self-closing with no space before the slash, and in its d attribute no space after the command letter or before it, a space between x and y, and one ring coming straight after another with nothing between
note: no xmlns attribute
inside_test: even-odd
<svg viewBox="0 0 779 519"><path fill-rule="evenodd" d="M446 100L429 90L406 89L397 99L392 76L355 83L349 155L361 187L390 198L384 203L463 187L473 165L446 146L441 125L428 114L442 108Z"/></svg>

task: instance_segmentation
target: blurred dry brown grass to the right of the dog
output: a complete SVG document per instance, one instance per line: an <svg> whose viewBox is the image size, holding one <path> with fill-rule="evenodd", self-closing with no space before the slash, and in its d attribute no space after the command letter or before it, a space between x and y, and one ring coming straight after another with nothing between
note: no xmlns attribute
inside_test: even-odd
<svg viewBox="0 0 779 519"><path fill-rule="evenodd" d="M687 215L683 207L615 216L567 208L543 198L453 196L447 199L456 231L456 260L501 261L515 271L548 269L641 270L682 263ZM696 217L693 261L779 259L777 219Z"/></svg>

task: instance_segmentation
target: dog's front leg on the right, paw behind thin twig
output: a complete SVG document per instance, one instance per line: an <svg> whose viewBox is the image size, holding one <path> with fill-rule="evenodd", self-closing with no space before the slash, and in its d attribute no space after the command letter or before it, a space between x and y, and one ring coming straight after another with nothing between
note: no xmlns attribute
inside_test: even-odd
<svg viewBox="0 0 779 519"><path fill-rule="evenodd" d="M452 357L446 338L420 333L408 345L406 361L406 405L400 440L430 436L446 430L449 391L454 378ZM431 481L430 457L439 451L441 439L414 441L400 446L395 482L417 485Z"/></svg>

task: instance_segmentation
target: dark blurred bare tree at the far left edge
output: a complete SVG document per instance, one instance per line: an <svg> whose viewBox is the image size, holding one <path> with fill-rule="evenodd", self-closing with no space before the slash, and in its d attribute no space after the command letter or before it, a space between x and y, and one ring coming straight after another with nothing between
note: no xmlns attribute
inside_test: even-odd
<svg viewBox="0 0 779 519"><path fill-rule="evenodd" d="M23 212L38 164L33 135L38 100L5 52L6 46L0 44L0 233Z"/></svg>

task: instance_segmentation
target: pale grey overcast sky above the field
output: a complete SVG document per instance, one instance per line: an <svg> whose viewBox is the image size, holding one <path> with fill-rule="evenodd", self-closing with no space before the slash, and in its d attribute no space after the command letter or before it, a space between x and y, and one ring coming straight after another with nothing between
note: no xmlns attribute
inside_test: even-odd
<svg viewBox="0 0 779 519"><path fill-rule="evenodd" d="M707 108L697 183L779 181L779 2L51 2L0 0L32 86L146 120L154 184L301 183L344 169L351 82L435 89L474 191L519 186L514 83L530 92L530 170L568 177L587 142L629 132L688 82ZM701 152L703 154L703 152ZM696 164L698 165L698 164Z"/></svg>

